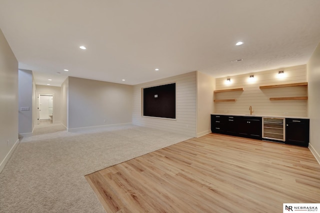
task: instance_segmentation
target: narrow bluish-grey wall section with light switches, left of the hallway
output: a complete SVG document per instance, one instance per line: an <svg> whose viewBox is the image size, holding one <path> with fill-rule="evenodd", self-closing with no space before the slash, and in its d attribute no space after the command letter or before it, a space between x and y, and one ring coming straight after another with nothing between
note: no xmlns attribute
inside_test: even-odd
<svg viewBox="0 0 320 213"><path fill-rule="evenodd" d="M20 136L32 135L32 71L19 69L18 71L18 96L19 96L19 134ZM22 111L21 107L29 107Z"/></svg>

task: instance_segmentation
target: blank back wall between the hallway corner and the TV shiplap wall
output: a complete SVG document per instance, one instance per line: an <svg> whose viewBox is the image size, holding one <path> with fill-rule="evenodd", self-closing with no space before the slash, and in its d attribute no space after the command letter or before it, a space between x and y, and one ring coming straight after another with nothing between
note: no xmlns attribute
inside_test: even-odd
<svg viewBox="0 0 320 213"><path fill-rule="evenodd" d="M68 130L131 123L131 85L68 77Z"/></svg>

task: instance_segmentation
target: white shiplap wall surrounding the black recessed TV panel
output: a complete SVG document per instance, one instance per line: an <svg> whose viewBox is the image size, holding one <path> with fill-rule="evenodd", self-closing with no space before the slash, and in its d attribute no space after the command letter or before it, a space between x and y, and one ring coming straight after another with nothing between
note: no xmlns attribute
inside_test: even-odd
<svg viewBox="0 0 320 213"><path fill-rule="evenodd" d="M142 116L142 88L172 82L175 82L176 118L166 119ZM196 71L134 85L132 123L196 136Z"/></svg>

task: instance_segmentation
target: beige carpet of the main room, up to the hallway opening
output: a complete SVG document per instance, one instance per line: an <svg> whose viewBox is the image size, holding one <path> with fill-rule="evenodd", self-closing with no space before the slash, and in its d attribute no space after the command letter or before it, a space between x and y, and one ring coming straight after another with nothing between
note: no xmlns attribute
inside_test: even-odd
<svg viewBox="0 0 320 213"><path fill-rule="evenodd" d="M0 212L104 212L85 174L188 138L134 125L22 138L0 173Z"/></svg>

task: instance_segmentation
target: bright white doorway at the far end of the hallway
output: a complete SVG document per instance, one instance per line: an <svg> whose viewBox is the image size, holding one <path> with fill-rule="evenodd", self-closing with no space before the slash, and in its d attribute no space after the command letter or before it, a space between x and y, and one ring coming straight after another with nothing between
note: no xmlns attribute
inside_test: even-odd
<svg viewBox="0 0 320 213"><path fill-rule="evenodd" d="M52 123L53 94L38 94L38 124L40 122Z"/></svg>

